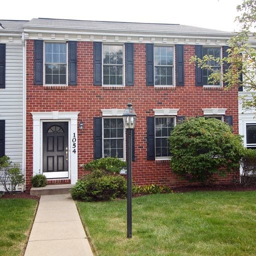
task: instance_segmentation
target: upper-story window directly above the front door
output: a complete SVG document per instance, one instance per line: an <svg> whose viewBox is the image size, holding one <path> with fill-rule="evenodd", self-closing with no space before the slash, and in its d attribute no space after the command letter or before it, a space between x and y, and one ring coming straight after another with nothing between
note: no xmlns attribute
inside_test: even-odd
<svg viewBox="0 0 256 256"><path fill-rule="evenodd" d="M44 44L44 83L48 84L67 84L67 58L66 43L45 42Z"/></svg>

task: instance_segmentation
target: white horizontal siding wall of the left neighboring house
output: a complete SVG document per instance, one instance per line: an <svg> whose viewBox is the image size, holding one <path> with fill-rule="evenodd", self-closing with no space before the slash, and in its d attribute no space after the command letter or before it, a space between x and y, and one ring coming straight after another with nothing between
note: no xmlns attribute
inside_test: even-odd
<svg viewBox="0 0 256 256"><path fill-rule="evenodd" d="M0 119L5 120L5 154L22 166L22 45L6 43L5 88Z"/></svg>

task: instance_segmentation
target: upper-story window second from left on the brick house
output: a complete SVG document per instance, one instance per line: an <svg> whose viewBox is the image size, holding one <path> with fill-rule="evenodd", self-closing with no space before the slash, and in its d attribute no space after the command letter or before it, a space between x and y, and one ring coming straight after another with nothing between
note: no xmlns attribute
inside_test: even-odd
<svg viewBox="0 0 256 256"><path fill-rule="evenodd" d="M123 45L103 44L103 84L123 85Z"/></svg>

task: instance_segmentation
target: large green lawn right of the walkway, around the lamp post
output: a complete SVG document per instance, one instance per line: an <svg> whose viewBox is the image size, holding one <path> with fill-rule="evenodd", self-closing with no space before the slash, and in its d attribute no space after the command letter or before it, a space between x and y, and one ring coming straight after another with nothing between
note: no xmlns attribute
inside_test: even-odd
<svg viewBox="0 0 256 256"><path fill-rule="evenodd" d="M77 202L95 255L256 255L256 191L154 194L126 200Z"/></svg>

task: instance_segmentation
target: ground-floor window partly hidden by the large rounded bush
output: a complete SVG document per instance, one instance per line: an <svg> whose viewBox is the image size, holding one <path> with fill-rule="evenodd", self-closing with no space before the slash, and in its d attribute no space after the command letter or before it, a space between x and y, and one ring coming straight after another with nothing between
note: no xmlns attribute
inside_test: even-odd
<svg viewBox="0 0 256 256"><path fill-rule="evenodd" d="M170 156L168 137L174 127L175 117L155 117L155 157Z"/></svg>

